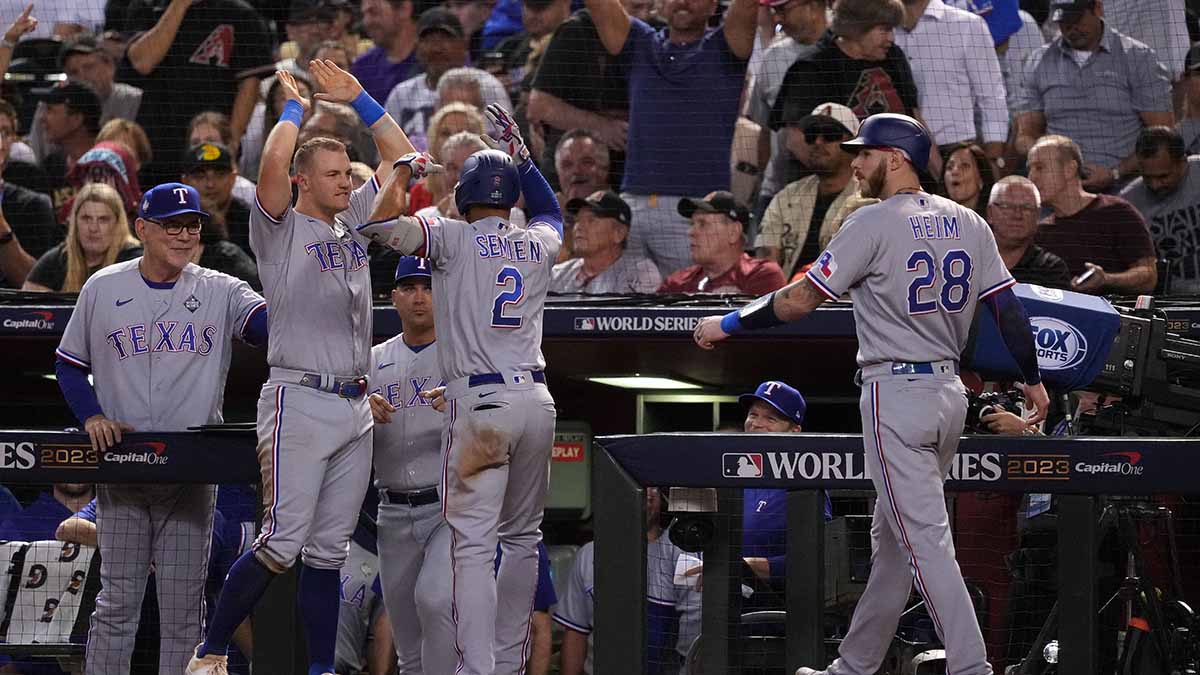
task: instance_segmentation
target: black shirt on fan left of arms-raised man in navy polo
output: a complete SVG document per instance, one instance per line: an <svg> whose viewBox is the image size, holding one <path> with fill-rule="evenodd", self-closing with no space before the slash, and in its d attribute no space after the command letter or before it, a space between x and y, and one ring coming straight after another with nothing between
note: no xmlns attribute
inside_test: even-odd
<svg viewBox="0 0 1200 675"><path fill-rule="evenodd" d="M589 113L626 117L629 78L622 61L604 48L592 14L580 10L563 22L550 38L529 88ZM566 131L544 127L546 150L539 163L544 172L553 171L554 147Z"/></svg>

